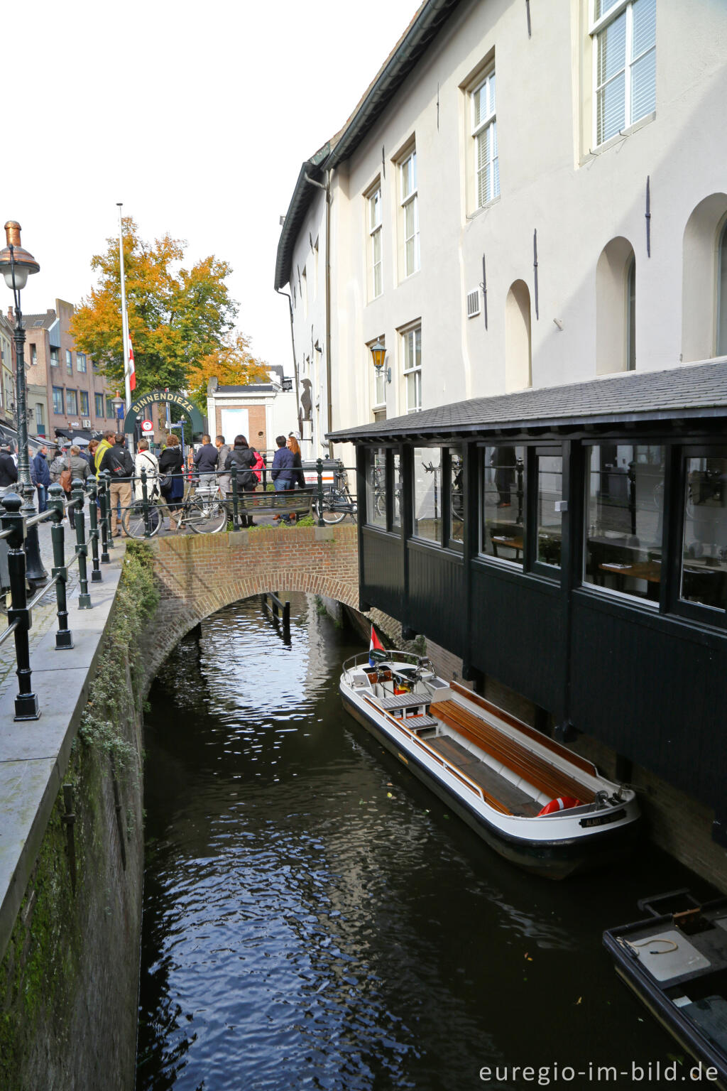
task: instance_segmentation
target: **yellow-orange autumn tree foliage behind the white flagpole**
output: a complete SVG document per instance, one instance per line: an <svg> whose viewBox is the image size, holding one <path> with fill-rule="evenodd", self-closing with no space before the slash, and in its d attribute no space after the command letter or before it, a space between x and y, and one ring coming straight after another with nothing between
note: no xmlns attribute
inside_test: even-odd
<svg viewBox="0 0 727 1091"><path fill-rule="evenodd" d="M134 219L123 219L135 396L165 387L198 388L202 380L194 376L199 369L210 360L221 363L232 359L239 343L244 345L247 365L262 368L250 353L246 338L234 331L238 304L225 283L230 266L210 255L186 268L184 245L169 235L147 243L140 238ZM123 389L118 239L107 239L106 252L96 254L90 264L98 274L98 284L76 309L71 333L78 349L92 356L102 374Z"/></svg>

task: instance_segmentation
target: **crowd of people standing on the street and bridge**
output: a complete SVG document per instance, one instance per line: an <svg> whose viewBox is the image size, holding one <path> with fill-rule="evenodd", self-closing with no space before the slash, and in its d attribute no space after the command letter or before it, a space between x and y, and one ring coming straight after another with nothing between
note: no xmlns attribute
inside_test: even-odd
<svg viewBox="0 0 727 1091"><path fill-rule="evenodd" d="M298 433L276 437L277 451L269 468L270 480L276 492L305 488L305 477L301 458ZM111 533L124 533L119 512L130 506L133 500L143 496L142 470L146 473L147 499L158 505L159 518L169 518L169 529L179 526L184 501L184 483L195 479L199 491L220 490L226 502L232 497L232 467L237 468L238 489L254 492L260 484L263 471L267 469L265 455L247 443L244 435L235 435L230 445L223 435L217 435L213 444L209 435L202 436L202 444L189 448L186 463L182 454L180 437L170 432L161 452L154 454L146 439L138 441L136 455L132 458L125 435L113 431L105 432L101 440L90 440L87 446L72 444L61 449L56 447L49 454L47 445L38 447L31 459L31 480L37 492L38 512L48 508L48 490L51 484L61 485L66 496L71 495L72 481L108 470L111 497ZM15 488L17 482L17 455L12 444L0 445L0 499ZM294 515L274 516L275 520L290 523ZM255 526L252 516L240 511L243 527Z"/></svg>

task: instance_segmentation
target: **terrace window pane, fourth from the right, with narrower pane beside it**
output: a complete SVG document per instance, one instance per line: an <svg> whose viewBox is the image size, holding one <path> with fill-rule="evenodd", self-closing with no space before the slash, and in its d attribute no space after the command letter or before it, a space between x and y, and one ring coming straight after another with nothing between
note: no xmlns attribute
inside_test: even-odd
<svg viewBox="0 0 727 1091"><path fill-rule="evenodd" d="M482 552L522 565L525 448L485 447Z"/></svg>

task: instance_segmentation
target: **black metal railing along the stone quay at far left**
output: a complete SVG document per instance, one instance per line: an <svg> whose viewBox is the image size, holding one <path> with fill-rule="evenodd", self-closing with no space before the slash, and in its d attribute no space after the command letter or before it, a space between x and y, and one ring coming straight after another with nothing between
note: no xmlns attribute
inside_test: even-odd
<svg viewBox="0 0 727 1091"><path fill-rule="evenodd" d="M86 532L84 505L86 495L89 500L89 527ZM100 507L100 516L97 509ZM38 697L33 692L33 672L31 669L29 632L33 627L33 610L48 591L56 588L56 610L58 630L56 632L56 650L66 651L73 647L73 633L69 628L69 611L66 600L66 584L69 572L78 564L78 608L90 610L92 601L88 594L88 547L92 554L92 583L101 577L101 563L108 563L108 481L104 475L99 480L89 478L87 485L80 479L71 483L71 496L64 499L60 484L51 484L48 490L48 511L34 515L29 519L22 514L23 500L17 493L7 492L0 501L0 540L8 543L8 583L10 606L8 608L8 625L0 633L0 645L13 636L15 639L15 662L17 674L17 696L15 697L15 720L37 720L40 716ZM65 526L68 517L69 529L75 531L73 556L65 560ZM50 537L53 551L51 575L40 587L34 587L28 592L26 578L25 540L29 527L46 520L51 521ZM98 543L101 541L99 561ZM33 597L29 598L29 595Z"/></svg>

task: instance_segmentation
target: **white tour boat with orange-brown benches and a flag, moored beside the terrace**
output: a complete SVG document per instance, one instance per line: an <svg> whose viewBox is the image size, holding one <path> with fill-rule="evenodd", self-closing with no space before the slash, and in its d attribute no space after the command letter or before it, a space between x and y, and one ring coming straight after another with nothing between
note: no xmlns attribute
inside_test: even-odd
<svg viewBox="0 0 727 1091"><path fill-rule="evenodd" d="M633 842L632 789L437 678L428 659L374 648L343 663L340 692L346 709L506 859L564 878Z"/></svg>

